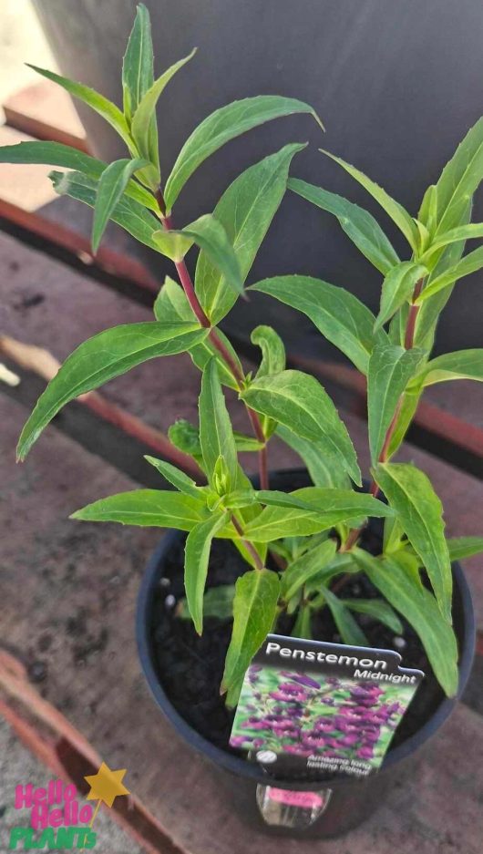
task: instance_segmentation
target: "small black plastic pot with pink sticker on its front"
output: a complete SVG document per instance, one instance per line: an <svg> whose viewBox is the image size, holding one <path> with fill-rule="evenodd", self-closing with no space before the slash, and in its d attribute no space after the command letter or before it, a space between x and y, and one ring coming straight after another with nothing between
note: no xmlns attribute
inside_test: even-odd
<svg viewBox="0 0 483 854"><path fill-rule="evenodd" d="M300 474L297 471L299 478ZM371 777L327 782L322 779L315 783L313 780L287 781L268 777L257 764L233 756L200 736L176 711L159 681L151 641L154 592L163 575L165 557L173 542L182 536L180 531L172 530L163 537L149 561L139 591L139 657L156 702L178 735L222 774L223 787L231 788L235 807L250 825L305 839L343 835L374 812L390 784L405 772L407 760L414 757L418 748L447 720L468 682L475 649L475 620L468 582L461 566L453 564L453 617L460 650L457 696L444 698L414 736L388 751L382 767ZM307 794L297 796L297 792ZM313 793L313 797L308 793Z"/></svg>

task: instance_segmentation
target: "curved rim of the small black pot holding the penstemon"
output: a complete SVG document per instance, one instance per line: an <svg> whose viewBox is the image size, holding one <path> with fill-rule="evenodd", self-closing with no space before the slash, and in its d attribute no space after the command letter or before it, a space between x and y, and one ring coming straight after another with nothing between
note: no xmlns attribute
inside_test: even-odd
<svg viewBox="0 0 483 854"><path fill-rule="evenodd" d="M283 471L287 470L288 469L284 469ZM301 470L302 469L293 469L293 471ZM282 473L282 471L276 473ZM351 777L341 777L336 780L327 781L287 781L268 776L257 764L248 762L246 759L239 756L234 756L233 754L223 750L221 747L213 745L211 741L204 736L201 736L197 730L188 724L188 722L181 717L179 712L177 712L174 705L171 704L170 697L164 691L159 680L159 675L154 666L152 644L150 643L149 638L149 626L153 592L159 579L159 564L163 561L164 555L168 550L170 550L171 545L182 536L183 532L180 530L167 530L162 540L159 542L158 547L152 553L139 589L136 612L136 635L141 666L148 681L151 694L154 696L154 699L158 703L163 714L170 720L170 723L175 727L179 735L182 736L182 738L184 738L184 740L187 741L188 744L198 753L202 754L202 756L206 756L216 766L224 768L225 771L229 771L237 777L245 777L254 782L265 785L268 784L285 788L290 786L292 789L297 790L312 790L314 787L325 787L334 785L335 783L337 787L357 786L357 784L360 785L361 781L359 779ZM395 747L394 750L389 751L385 755L383 764L377 771L377 774L383 773L389 768L394 767L396 763L406 759L406 757L414 753L418 747L425 744L431 736L435 735L439 727L445 723L449 715L453 712L458 699L463 694L466 684L468 683L468 677L471 671L475 652L475 615L473 611L471 593L464 571L457 561L452 564L452 569L455 587L459 592L461 599L461 611L463 618L461 655L458 664L459 684L457 695L455 697L445 697L437 706L435 713L426 720L426 723L418 729L413 736L407 738L406 741Z"/></svg>

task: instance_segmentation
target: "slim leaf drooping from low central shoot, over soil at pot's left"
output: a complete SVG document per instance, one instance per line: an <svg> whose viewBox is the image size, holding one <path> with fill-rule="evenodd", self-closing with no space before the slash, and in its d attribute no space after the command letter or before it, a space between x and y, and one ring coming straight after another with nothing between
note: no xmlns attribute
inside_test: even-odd
<svg viewBox="0 0 483 854"><path fill-rule="evenodd" d="M184 589L186 602L198 634L203 631L203 593L208 575L211 541L223 527L226 513L213 514L190 530L184 550Z"/></svg>

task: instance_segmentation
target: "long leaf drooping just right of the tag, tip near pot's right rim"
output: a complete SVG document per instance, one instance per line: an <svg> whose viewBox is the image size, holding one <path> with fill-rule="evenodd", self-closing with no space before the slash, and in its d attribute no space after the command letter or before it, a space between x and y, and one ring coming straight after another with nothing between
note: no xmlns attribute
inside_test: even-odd
<svg viewBox="0 0 483 854"><path fill-rule="evenodd" d="M385 599L410 622L423 644L437 681L448 696L457 693L457 640L434 596L396 557L378 560L360 549L355 560Z"/></svg>

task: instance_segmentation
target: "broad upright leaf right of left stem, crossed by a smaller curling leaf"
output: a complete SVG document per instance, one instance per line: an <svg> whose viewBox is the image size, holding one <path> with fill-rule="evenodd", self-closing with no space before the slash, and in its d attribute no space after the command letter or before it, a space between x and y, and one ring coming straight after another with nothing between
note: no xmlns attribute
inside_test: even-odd
<svg viewBox="0 0 483 854"><path fill-rule="evenodd" d="M243 282L283 200L293 155L303 148L297 143L286 145L242 172L213 211L233 246ZM205 313L218 324L233 307L236 294L226 287L221 269L206 252L200 252L195 288Z"/></svg>

